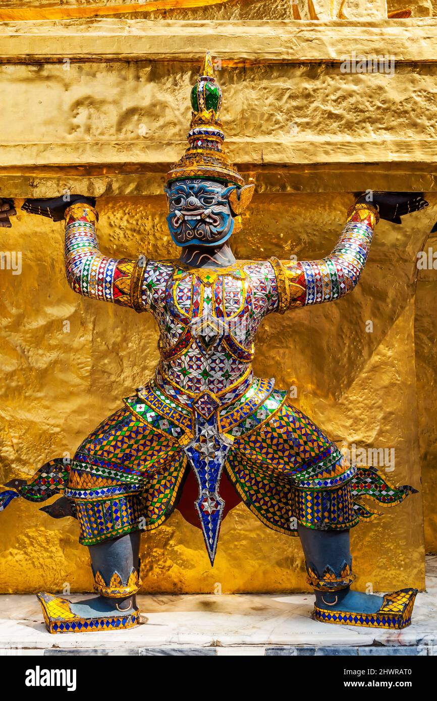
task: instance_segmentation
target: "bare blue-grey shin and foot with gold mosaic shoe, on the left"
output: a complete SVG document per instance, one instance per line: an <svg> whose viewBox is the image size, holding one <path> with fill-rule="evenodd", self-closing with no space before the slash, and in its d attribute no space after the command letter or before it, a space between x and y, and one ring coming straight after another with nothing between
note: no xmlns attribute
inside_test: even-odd
<svg viewBox="0 0 437 701"><path fill-rule="evenodd" d="M49 633L83 633L132 628L139 620L135 594L141 585L140 533L90 545L97 597L72 604L53 594L37 594Z"/></svg>

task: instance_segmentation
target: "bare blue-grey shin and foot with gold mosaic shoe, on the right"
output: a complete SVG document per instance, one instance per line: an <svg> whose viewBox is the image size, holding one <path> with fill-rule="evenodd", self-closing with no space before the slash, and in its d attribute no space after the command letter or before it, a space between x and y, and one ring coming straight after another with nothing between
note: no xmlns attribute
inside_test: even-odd
<svg viewBox="0 0 437 701"><path fill-rule="evenodd" d="M351 590L355 575L349 531L316 531L304 526L298 526L298 531L307 582L316 594L315 620L390 629L410 625L417 589L401 589L383 597Z"/></svg>

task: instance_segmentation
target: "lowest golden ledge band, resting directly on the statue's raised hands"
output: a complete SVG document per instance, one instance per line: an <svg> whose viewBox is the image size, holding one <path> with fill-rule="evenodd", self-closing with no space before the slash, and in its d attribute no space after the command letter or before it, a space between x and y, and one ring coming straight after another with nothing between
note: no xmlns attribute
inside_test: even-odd
<svg viewBox="0 0 437 701"><path fill-rule="evenodd" d="M130 168L128 164L119 168L110 164L3 168L0 197L55 197L65 189L87 192L94 197L162 197L169 167L170 163L137 168ZM332 163L329 166L309 164L304 168L248 168L238 164L238 170L245 178L255 177L257 195L362 192L369 186L385 190L388 177L394 191L437 192L437 163Z"/></svg>

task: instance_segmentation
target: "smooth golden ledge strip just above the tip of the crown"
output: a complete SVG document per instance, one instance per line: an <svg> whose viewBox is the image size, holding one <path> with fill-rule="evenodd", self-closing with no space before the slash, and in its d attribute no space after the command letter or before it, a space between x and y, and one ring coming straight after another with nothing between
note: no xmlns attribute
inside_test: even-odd
<svg viewBox="0 0 437 701"><path fill-rule="evenodd" d="M415 20L184 22L39 20L0 24L0 62L179 61L206 48L225 65L339 62L342 55L394 55L435 63L437 18Z"/></svg>

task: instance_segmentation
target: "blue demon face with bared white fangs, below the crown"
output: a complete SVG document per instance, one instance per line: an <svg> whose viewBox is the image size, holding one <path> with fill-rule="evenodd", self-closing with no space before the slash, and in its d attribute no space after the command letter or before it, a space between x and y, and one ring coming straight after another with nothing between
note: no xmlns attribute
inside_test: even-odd
<svg viewBox="0 0 437 701"><path fill-rule="evenodd" d="M228 196L236 190L213 180L175 180L165 189L168 229L177 246L224 243L234 230Z"/></svg>

